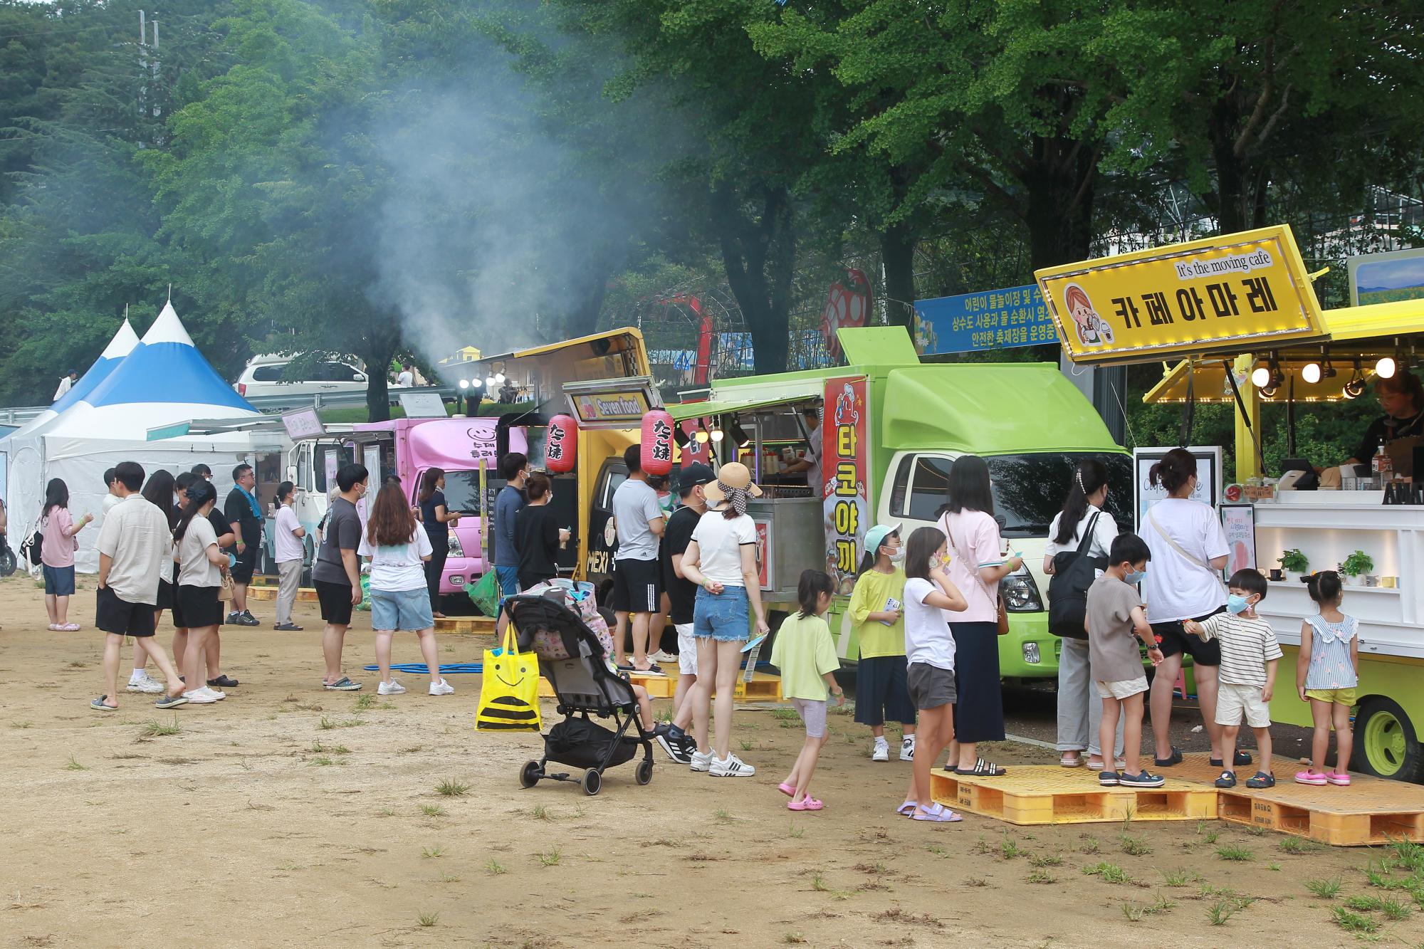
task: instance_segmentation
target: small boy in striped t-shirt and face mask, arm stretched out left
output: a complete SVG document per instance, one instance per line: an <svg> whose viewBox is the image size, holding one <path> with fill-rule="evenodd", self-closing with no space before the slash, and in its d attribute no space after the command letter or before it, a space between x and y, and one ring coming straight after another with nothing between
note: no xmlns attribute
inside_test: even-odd
<svg viewBox="0 0 1424 949"><path fill-rule="evenodd" d="M1218 613L1202 623L1188 620L1182 624L1192 636L1202 640L1215 638L1222 647L1219 673L1220 691L1216 698L1216 724L1222 725L1222 741L1230 748L1223 751L1223 761L1230 761L1236 751L1236 734L1242 717L1256 732L1256 747L1260 750L1263 771L1246 781L1247 788L1273 788L1276 778L1270 772L1270 702L1276 688L1276 663L1280 660L1280 644L1270 623L1256 616L1256 606L1266 598L1266 577L1259 570L1237 570L1227 583L1226 613ZM1229 767L1216 779L1218 788L1235 788L1236 772Z"/></svg>

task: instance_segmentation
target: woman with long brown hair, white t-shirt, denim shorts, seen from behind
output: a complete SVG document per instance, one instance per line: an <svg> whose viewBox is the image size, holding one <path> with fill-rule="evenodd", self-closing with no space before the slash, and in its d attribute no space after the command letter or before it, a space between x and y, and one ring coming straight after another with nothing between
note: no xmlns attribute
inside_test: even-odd
<svg viewBox="0 0 1424 949"><path fill-rule="evenodd" d="M370 627L376 631L376 663L380 665L376 693L399 695L406 691L390 675L390 641L396 630L410 630L420 637L420 654L426 657L430 673L430 694L451 694L454 688L440 677L436 620L426 587L424 561L433 553L430 537L410 512L410 502L399 486L384 484L376 494L356 553L370 559Z"/></svg>

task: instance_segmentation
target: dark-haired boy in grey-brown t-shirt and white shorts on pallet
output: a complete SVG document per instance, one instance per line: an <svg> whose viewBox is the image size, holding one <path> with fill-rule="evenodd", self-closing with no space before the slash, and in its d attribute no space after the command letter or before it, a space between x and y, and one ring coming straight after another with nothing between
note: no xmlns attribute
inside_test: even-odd
<svg viewBox="0 0 1424 949"><path fill-rule="evenodd" d="M1098 784L1104 787L1161 788L1165 779L1148 772L1139 764L1142 754L1142 697L1148 691L1148 677L1142 670L1138 640L1148 647L1152 665L1162 661L1162 648L1152 636L1138 584L1146 579L1152 553L1136 534L1118 534L1108 551L1108 567L1088 587L1088 664L1102 697L1102 724L1098 727L1099 748L1112 748L1118 734L1118 714L1124 715L1122 757L1126 769L1119 775L1104 758Z"/></svg>

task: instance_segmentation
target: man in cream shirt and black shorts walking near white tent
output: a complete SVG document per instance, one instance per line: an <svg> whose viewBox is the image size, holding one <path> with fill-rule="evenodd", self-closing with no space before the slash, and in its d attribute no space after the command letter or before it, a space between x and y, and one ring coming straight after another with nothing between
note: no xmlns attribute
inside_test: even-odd
<svg viewBox="0 0 1424 949"><path fill-rule="evenodd" d="M172 531L168 516L148 503L140 489L144 469L137 462L120 462L114 467L114 490L120 503L104 516L98 534L98 591L94 626L104 630L104 680L108 693L100 695L90 708L114 711L118 708L118 654L124 637L134 640L162 671L168 690L155 705L182 705L184 684L178 670L168 661L168 653L154 640L154 610L158 603L158 580L164 559L171 556Z"/></svg>

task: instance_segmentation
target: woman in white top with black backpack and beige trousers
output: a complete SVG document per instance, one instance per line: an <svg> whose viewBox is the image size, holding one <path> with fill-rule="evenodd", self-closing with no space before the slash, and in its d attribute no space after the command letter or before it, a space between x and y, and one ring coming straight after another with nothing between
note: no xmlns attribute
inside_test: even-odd
<svg viewBox="0 0 1424 949"><path fill-rule="evenodd" d="M1055 577L1048 587L1049 616L1064 610L1062 598L1077 600L1087 594L1087 587L1102 573L1108 563L1108 550L1118 536L1118 522L1102 506L1108 500L1108 466L1098 459L1085 457L1074 469L1072 487L1064 509L1048 527L1048 546L1044 547L1044 573ZM1074 561L1085 559L1074 570ZM1091 570L1088 567L1092 567ZM1078 574L1084 577L1078 577ZM1069 576L1078 579L1072 583ZM1085 579L1087 584L1081 584ZM1072 590L1064 590L1065 581ZM1082 586L1078 591L1077 587ZM1058 598L1059 603L1054 603ZM1081 616L1085 600L1078 603ZM1072 607L1068 607L1072 613ZM1052 627L1049 627L1052 628ZM1092 670L1088 665L1088 634L1079 621L1074 633L1059 631L1062 653L1058 657L1058 764L1078 768L1084 764L1082 752L1088 752L1088 767L1102 769L1102 750L1098 747L1098 722L1102 721L1102 701L1092 687ZM1118 721L1116 755L1122 757L1122 721Z"/></svg>

